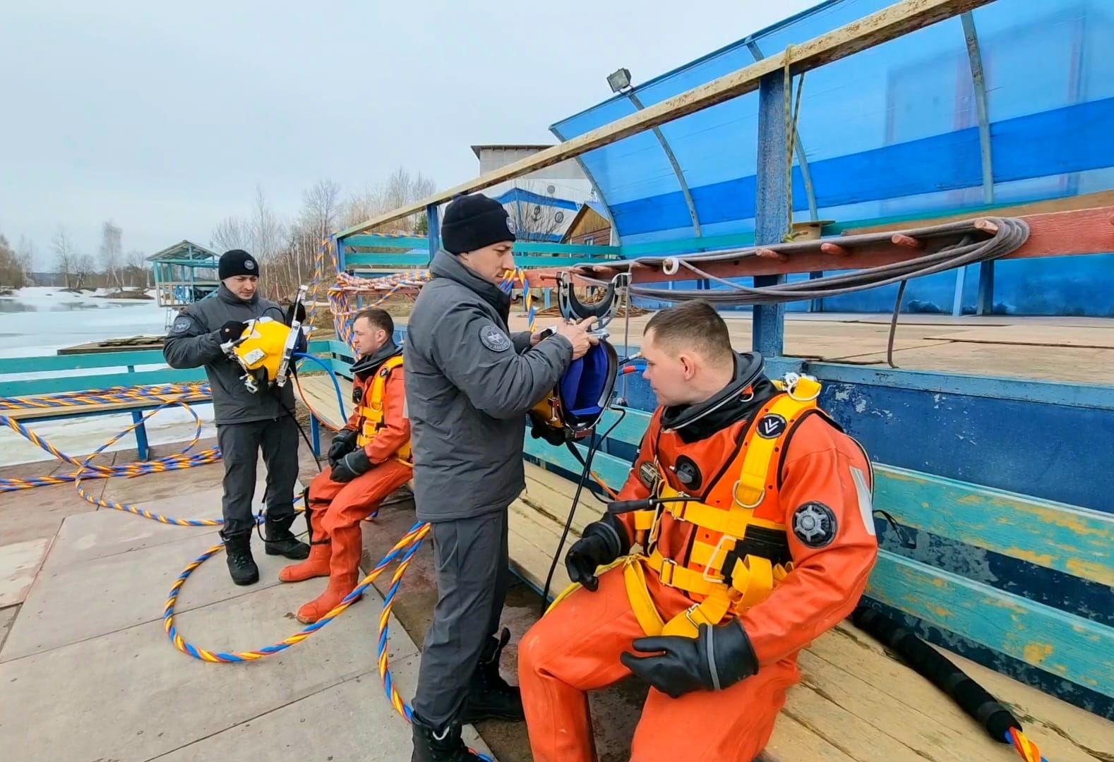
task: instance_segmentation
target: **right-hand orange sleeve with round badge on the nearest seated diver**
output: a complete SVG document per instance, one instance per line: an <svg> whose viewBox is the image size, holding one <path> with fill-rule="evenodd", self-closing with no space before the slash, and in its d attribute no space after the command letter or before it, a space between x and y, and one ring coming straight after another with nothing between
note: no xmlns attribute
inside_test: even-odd
<svg viewBox="0 0 1114 762"><path fill-rule="evenodd" d="M847 617L878 558L870 463L854 440L810 416L790 440L782 475L793 570L740 617L761 666Z"/></svg>

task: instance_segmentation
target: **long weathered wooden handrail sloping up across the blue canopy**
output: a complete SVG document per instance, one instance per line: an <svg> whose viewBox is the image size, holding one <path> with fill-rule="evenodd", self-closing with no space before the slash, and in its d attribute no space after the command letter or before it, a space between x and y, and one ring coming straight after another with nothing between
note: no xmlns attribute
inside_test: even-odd
<svg viewBox="0 0 1114 762"><path fill-rule="evenodd" d="M989 0L902 0L877 13L794 46L791 57L788 57L785 52L769 56L737 71L694 87L631 116L616 119L571 140L512 162L457 187L436 193L413 204L401 206L359 225L353 225L339 233L338 237L346 237L373 229L384 223L423 212L431 204L442 204L458 194L480 190L536 169L559 164L631 135L664 125L673 119L753 92L758 90L759 80L762 77L784 70L786 62L791 63L792 74L801 74L965 11L974 10L987 2Z"/></svg>

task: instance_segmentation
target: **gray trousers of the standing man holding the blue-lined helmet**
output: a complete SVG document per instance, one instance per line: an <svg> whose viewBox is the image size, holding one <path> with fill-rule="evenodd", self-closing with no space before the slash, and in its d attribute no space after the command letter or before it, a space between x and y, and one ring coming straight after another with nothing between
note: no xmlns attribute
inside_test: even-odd
<svg viewBox="0 0 1114 762"><path fill-rule="evenodd" d="M431 534L438 599L412 706L441 729L460 715L483 645L499 628L510 585L507 509L434 521Z"/></svg>

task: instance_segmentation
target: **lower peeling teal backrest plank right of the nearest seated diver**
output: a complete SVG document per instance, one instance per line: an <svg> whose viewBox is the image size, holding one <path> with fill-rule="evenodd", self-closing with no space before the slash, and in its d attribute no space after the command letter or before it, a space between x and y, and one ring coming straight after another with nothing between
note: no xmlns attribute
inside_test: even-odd
<svg viewBox="0 0 1114 762"><path fill-rule="evenodd" d="M867 595L945 629L1114 696L1114 628L879 551Z"/></svg>

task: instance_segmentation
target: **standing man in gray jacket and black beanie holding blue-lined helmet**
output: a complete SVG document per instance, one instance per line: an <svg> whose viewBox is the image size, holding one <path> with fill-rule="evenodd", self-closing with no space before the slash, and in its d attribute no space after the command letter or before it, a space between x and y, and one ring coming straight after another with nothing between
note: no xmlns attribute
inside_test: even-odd
<svg viewBox="0 0 1114 762"><path fill-rule="evenodd" d="M456 198L407 325L403 350L418 518L432 524L438 603L413 700L416 762L477 760L460 725L522 720L499 676L509 585L507 509L526 486L526 413L595 343L583 324L510 334L514 224L481 194ZM588 321L585 321L588 322Z"/></svg>

